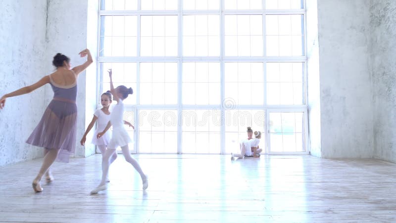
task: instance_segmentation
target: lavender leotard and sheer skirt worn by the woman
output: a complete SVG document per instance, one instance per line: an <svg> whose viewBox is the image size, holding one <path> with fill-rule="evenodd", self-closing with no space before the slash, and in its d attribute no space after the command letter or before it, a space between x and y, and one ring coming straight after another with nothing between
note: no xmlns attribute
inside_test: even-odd
<svg viewBox="0 0 396 223"><path fill-rule="evenodd" d="M66 88L51 80L51 87L54 98L26 143L49 150L60 149L56 161L68 163L76 150L77 84Z"/></svg>

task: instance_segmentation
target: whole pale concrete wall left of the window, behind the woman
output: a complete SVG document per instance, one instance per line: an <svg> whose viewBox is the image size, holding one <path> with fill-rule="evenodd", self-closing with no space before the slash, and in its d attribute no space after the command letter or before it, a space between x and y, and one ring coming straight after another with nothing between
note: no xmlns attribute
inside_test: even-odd
<svg viewBox="0 0 396 223"><path fill-rule="evenodd" d="M4 80L0 82L0 94L30 85L53 72L51 61L56 53L69 56L72 66L76 66L86 61L78 53L89 47L95 60L98 2L0 0L0 80ZM96 69L96 64L92 65L78 80L77 157L95 153L93 145L85 148L79 141L86 129L86 114L91 120L96 108ZM0 111L0 166L43 156L42 148L30 146L25 140L52 96L47 85L32 94L7 100L5 110Z"/></svg>

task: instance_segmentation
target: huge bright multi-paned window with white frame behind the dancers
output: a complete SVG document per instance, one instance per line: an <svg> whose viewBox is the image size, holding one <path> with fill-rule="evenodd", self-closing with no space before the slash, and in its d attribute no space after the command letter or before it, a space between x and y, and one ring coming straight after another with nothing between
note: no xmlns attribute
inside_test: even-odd
<svg viewBox="0 0 396 223"><path fill-rule="evenodd" d="M269 154L304 153L304 5L101 0L98 95L108 68L115 85L134 89L125 118L136 153L237 152L247 126Z"/></svg>

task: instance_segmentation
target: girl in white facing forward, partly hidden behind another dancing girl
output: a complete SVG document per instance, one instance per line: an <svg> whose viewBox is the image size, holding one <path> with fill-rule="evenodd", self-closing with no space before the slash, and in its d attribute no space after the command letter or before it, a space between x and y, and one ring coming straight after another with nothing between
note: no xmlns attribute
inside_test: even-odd
<svg viewBox="0 0 396 223"><path fill-rule="evenodd" d="M110 142L110 132L107 131L102 137L98 138L97 135L99 132L102 132L104 130L104 128L106 127L107 123L110 121L110 111L109 111L109 107L112 100L112 95L110 93L110 91L107 91L105 93L103 93L100 96L100 104L103 106L103 108L98 109L97 111L95 111L94 113L94 117L91 120L91 123L88 125L87 130L85 131L83 137L81 138L81 145L84 146L85 145L85 141L87 140L87 134L91 131L92 127L94 127L95 122L98 123L97 128L95 129L94 132L94 137L92 139L92 144L96 145L100 151L100 153L102 154L102 156L104 155L104 152L106 152L106 147L108 145L108 143ZM124 124L129 125L132 128L135 128L131 123L129 123L128 121L124 120ZM117 153L113 153L113 155L111 155L110 157L110 164L112 164L114 162L114 160L117 159ZM106 177L106 182L110 182L108 180L108 176Z"/></svg>

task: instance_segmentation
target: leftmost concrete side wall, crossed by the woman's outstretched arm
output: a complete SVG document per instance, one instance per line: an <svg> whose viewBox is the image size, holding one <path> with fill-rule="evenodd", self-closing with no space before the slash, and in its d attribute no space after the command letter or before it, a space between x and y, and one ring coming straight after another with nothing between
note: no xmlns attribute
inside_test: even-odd
<svg viewBox="0 0 396 223"><path fill-rule="evenodd" d="M0 95L39 81L48 73L47 0L0 0ZM43 156L25 143L46 108L45 88L9 98L0 111L0 166Z"/></svg>

